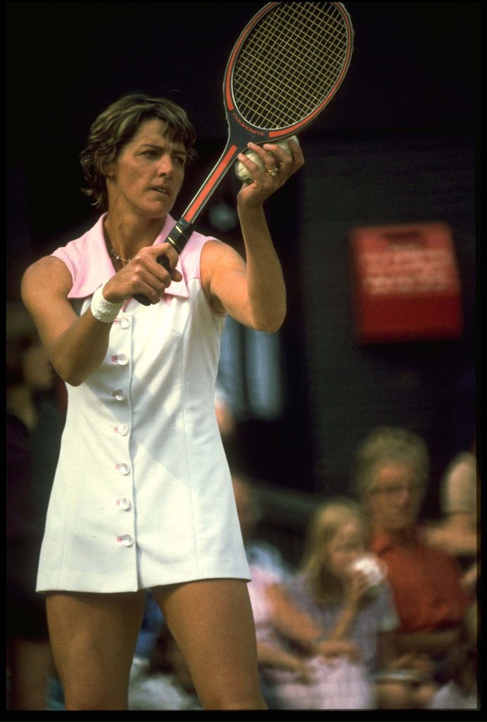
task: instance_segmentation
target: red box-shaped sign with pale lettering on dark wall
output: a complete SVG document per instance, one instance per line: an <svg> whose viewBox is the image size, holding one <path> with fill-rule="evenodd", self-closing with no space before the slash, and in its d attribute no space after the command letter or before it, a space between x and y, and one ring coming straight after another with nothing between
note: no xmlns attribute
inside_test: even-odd
<svg viewBox="0 0 487 722"><path fill-rule="evenodd" d="M446 223L358 227L350 246L361 343L461 334L460 277Z"/></svg>

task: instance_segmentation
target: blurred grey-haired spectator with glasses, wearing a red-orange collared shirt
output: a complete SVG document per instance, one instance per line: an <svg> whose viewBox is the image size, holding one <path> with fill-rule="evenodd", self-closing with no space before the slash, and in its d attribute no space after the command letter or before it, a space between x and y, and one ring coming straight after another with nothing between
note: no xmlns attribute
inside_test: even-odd
<svg viewBox="0 0 487 722"><path fill-rule="evenodd" d="M460 635L470 599L462 570L448 554L429 547L418 527L429 454L418 435L379 427L359 446L354 483L371 524L370 548L387 565L403 653L428 655L436 682L447 681L446 656Z"/></svg>

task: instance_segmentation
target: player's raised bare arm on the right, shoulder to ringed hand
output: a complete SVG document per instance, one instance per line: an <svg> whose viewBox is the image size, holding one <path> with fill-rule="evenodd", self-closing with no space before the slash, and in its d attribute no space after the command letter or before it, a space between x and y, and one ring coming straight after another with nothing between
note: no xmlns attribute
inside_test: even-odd
<svg viewBox="0 0 487 722"><path fill-rule="evenodd" d="M290 141L293 155L275 144L249 147L261 157L265 170L240 155L253 180L237 196L246 259L225 243L206 243L202 252L202 283L215 310L258 331L277 331L285 318L283 270L264 214L264 201L303 165L299 145ZM277 168L271 175L270 170Z"/></svg>

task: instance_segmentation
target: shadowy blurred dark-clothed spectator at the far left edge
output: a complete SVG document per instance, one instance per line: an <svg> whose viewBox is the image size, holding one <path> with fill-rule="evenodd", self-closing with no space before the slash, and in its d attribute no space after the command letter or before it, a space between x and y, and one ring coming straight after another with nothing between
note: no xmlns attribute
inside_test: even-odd
<svg viewBox="0 0 487 722"><path fill-rule="evenodd" d="M54 373L30 316L7 305L7 705L46 709L52 662L35 593L48 495L59 451Z"/></svg>

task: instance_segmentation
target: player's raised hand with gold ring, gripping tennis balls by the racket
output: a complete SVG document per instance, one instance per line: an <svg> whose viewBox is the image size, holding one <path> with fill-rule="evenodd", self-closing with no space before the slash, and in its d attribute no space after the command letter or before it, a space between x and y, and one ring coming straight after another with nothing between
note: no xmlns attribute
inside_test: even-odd
<svg viewBox="0 0 487 722"><path fill-rule="evenodd" d="M259 206L281 188L291 175L296 173L304 164L303 152L298 143L289 141L291 155L280 145L265 143L263 146L249 143L249 149L254 151L264 164L264 170L259 168L244 153L238 155L243 165L251 173L251 183L244 183L237 196L238 206Z"/></svg>

